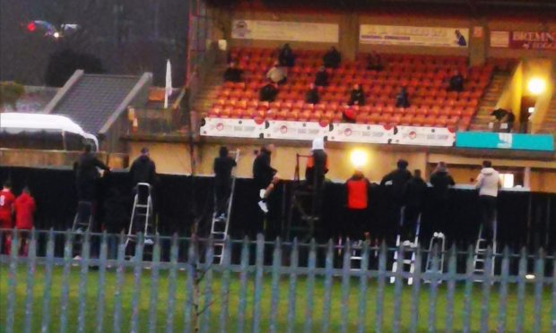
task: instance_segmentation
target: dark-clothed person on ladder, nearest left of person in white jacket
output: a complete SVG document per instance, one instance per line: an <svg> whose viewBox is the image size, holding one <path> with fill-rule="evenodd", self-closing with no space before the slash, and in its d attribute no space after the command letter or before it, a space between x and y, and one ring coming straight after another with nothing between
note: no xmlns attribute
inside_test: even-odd
<svg viewBox="0 0 556 333"><path fill-rule="evenodd" d="M433 232L444 232L447 226L449 188L454 186L454 178L448 173L446 163L439 162L436 169L430 175L432 185L432 210L430 225Z"/></svg>

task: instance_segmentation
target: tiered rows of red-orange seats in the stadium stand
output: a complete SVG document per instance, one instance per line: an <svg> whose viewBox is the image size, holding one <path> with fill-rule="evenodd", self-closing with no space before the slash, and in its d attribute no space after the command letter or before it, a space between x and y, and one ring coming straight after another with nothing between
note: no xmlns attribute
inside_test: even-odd
<svg viewBox="0 0 556 333"><path fill-rule="evenodd" d="M482 66L467 66L463 56L381 55L383 71L366 69L367 54L343 62L330 75L326 87L318 87L320 102L304 102L308 85L322 65L325 50L298 50L296 64L288 81L279 88L274 102L259 102L258 90L265 82L265 71L275 60L272 48L232 48L230 56L245 71L245 82L225 82L216 87L211 117L291 120L302 122L342 121L349 89L361 84L367 103L352 107L360 124L388 124L450 127L466 130L471 124L494 70L508 72L510 60L491 60ZM465 77L464 91L447 91L447 81L458 70ZM409 92L411 106L395 107L395 94L401 87Z"/></svg>

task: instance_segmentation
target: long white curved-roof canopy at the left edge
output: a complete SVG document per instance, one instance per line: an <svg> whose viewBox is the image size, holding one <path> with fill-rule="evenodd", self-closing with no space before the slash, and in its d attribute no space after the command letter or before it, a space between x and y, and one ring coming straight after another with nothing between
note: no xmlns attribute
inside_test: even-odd
<svg viewBox="0 0 556 333"><path fill-rule="evenodd" d="M96 136L64 115L0 113L0 148L71 151L85 143L99 149Z"/></svg>

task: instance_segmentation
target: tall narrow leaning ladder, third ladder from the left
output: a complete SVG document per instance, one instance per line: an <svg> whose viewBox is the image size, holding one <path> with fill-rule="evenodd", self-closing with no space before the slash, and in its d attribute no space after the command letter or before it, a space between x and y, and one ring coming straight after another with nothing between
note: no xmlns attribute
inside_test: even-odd
<svg viewBox="0 0 556 333"><path fill-rule="evenodd" d="M238 163L239 149L230 151L230 155L234 158L236 163ZM235 187L236 173L234 170L231 173L230 190L225 193L225 198L219 198L219 194L216 192L216 187L214 191L214 209L213 219L211 221L211 235L213 236L214 263L217 264L222 264L224 260L224 247L226 239L228 238L228 230L230 228L231 206L233 204ZM224 210L224 212L222 212L222 210Z"/></svg>

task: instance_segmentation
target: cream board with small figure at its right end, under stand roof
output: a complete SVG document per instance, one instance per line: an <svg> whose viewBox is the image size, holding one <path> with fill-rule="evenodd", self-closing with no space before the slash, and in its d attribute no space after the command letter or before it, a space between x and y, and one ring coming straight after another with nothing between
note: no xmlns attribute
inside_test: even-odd
<svg viewBox="0 0 556 333"><path fill-rule="evenodd" d="M361 44L467 47L469 29L361 24Z"/></svg>

